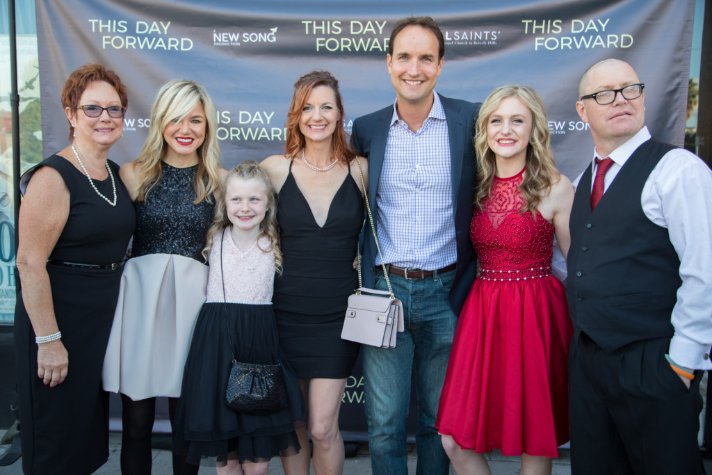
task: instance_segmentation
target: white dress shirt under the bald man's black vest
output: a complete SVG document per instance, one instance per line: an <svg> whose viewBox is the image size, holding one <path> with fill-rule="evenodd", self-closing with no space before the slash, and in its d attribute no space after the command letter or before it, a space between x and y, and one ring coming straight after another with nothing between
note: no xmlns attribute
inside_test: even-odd
<svg viewBox="0 0 712 475"><path fill-rule="evenodd" d="M614 165L605 176L604 193L632 153L649 139L643 127L608 156ZM605 158L594 150L592 176L596 157ZM681 366L712 370L712 170L688 150L670 150L650 173L640 201L645 216L668 229L680 259L682 285L671 315L675 333L670 357Z"/></svg>

